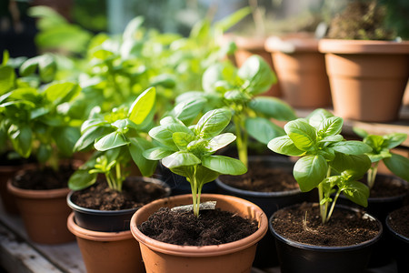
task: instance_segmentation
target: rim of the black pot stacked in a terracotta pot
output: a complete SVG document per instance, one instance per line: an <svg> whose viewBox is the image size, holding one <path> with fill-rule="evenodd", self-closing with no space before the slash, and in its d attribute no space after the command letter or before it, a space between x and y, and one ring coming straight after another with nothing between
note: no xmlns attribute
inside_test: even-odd
<svg viewBox="0 0 409 273"><path fill-rule="evenodd" d="M151 183L155 183L157 185L161 185L164 187L166 195L170 196L171 194L171 188L169 186L167 186L165 184L164 181L162 181L161 179L158 178L153 178L153 177L127 177L127 178L132 178L132 179L136 179L136 180L143 180L145 182L151 182ZM103 213L104 215L115 215L115 216L119 216L119 215L126 215L129 213L132 213L133 211L136 211L137 209L139 209L139 207L134 207L134 208L127 208L127 209L120 209L120 210L100 210L100 209L94 209L94 208L87 208L87 207L81 207L76 205L73 201L71 201L71 196L74 194L75 191L70 190L67 194L66 197L66 203L68 205L68 207L71 207L72 209L74 209L75 211L78 211L80 213L83 214L88 214L88 215L101 215L101 213Z"/></svg>

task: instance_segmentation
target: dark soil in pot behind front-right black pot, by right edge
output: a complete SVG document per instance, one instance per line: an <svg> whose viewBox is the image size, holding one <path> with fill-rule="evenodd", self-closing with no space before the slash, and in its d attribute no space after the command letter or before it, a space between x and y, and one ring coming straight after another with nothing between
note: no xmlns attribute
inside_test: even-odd
<svg viewBox="0 0 409 273"><path fill-rule="evenodd" d="M363 181L365 181L364 179ZM369 197L398 197L409 193L409 188L398 183L394 177L377 176L374 181L374 187L371 188ZM366 182L364 182L366 183Z"/></svg>

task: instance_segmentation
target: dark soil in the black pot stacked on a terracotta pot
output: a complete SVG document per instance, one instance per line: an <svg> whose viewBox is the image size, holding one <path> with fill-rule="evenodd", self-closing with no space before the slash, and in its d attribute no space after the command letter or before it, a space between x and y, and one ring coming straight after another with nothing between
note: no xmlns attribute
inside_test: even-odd
<svg viewBox="0 0 409 273"><path fill-rule="evenodd" d="M142 207L165 196L164 187L129 177L125 180L121 192L109 188L105 180L98 180L91 187L75 191L71 201L80 207L119 210Z"/></svg>

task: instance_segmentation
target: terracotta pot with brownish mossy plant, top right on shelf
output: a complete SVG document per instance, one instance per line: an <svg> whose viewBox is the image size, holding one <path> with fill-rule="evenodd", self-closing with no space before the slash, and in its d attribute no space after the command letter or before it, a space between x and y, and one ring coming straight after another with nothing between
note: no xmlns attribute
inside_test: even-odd
<svg viewBox="0 0 409 273"><path fill-rule="evenodd" d="M337 116L370 122L397 119L409 76L409 42L396 38L399 33L384 24L387 10L382 4L351 2L320 41Z"/></svg>

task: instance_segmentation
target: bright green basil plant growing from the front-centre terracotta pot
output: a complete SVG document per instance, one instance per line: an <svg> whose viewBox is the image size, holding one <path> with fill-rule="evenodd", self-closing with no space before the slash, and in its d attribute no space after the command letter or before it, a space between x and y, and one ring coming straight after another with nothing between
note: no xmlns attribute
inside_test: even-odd
<svg viewBox="0 0 409 273"><path fill-rule="evenodd" d="M162 164L177 175L186 177L192 188L193 207L199 216L202 187L221 174L242 175L244 164L231 157L213 155L218 149L232 143L232 133L220 134L230 123L231 112L214 109L206 112L195 126L185 126L179 119L166 116L149 131L157 146L144 152L150 160Z"/></svg>

